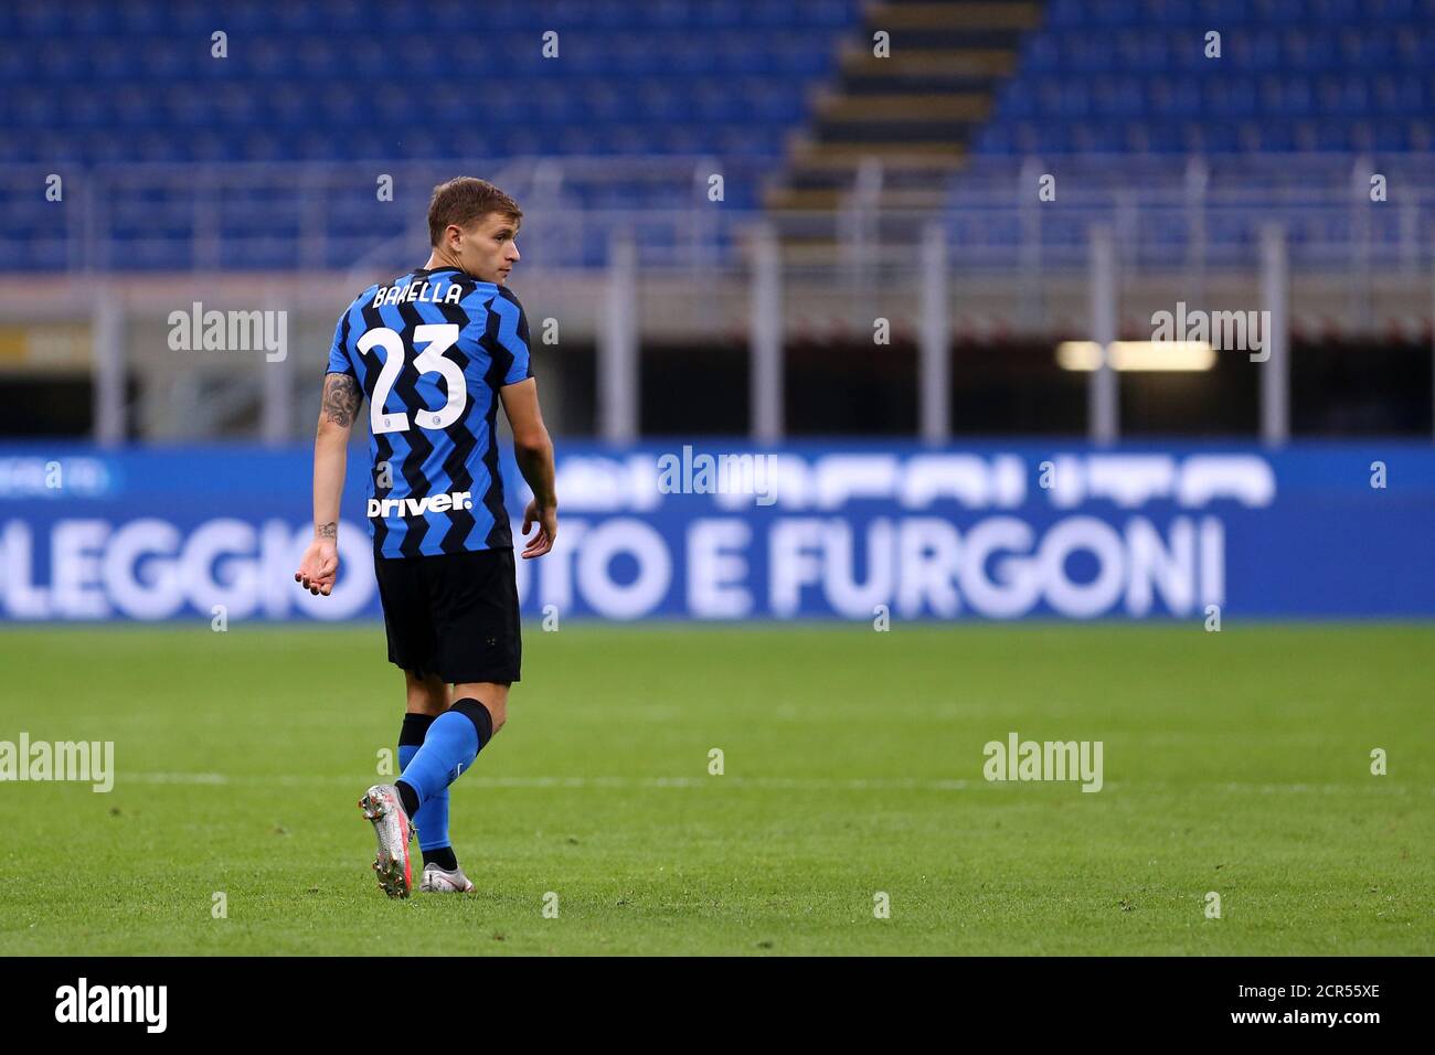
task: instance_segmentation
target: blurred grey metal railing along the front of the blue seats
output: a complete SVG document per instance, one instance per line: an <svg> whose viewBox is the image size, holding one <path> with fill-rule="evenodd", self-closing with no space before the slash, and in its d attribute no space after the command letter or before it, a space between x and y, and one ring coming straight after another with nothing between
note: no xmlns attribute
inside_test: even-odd
<svg viewBox="0 0 1435 1055"><path fill-rule="evenodd" d="M0 273L403 267L423 243L430 188L456 172L485 174L518 198L524 244L552 268L604 267L621 233L644 267L733 264L755 221L809 244L818 264L870 268L907 258L933 217L883 207L877 158L834 211L763 211L772 168L707 156L0 167ZM940 215L960 263L992 271L1079 270L1089 228L1109 224L1124 260L1200 276L1251 260L1271 221L1289 231L1297 271L1416 270L1435 224L1432 174L1435 155L977 158ZM65 181L59 202L46 200L49 175ZM718 201L713 175L723 177ZM1055 200L1040 197L1043 177Z"/></svg>

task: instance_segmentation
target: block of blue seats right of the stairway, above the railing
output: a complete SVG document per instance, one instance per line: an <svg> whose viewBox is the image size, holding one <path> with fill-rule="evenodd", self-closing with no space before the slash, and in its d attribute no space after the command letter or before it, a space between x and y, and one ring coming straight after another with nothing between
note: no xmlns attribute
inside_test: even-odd
<svg viewBox="0 0 1435 1055"><path fill-rule="evenodd" d="M1411 149L1431 69L1435 0L1052 0L976 152Z"/></svg>

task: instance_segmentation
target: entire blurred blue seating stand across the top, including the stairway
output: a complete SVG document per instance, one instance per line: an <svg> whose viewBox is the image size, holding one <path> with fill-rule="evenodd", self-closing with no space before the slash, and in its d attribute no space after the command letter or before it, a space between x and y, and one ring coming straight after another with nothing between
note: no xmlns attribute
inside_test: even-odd
<svg viewBox="0 0 1435 1055"><path fill-rule="evenodd" d="M396 0L383 44L373 11L235 4L215 59L202 3L0 7L0 268L343 268L412 234L376 174L410 165L405 195L445 161L580 217L544 245L573 267L623 224L650 257L728 258L763 210L817 261L864 210L885 212L871 241L908 245L944 210L1012 267L1032 243L1082 258L1095 220L1158 257L1246 253L1284 220L1297 253L1413 260L1435 208L1435 0L660 0L641 22ZM1056 159L1071 208L1016 208ZM1353 217L1375 171L1401 208ZM52 172L60 212L34 194ZM699 220L712 172L723 210Z"/></svg>

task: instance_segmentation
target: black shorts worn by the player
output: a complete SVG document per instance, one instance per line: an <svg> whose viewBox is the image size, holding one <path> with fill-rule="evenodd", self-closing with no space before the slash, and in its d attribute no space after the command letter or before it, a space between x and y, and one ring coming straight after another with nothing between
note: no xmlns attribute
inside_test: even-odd
<svg viewBox="0 0 1435 1055"><path fill-rule="evenodd" d="M514 551L379 557L389 662L419 676L517 682L522 660Z"/></svg>

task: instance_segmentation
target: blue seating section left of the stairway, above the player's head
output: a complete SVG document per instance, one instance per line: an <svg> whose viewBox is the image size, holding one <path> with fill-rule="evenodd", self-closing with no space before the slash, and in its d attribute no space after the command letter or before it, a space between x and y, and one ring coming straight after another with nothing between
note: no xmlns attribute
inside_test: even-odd
<svg viewBox="0 0 1435 1055"><path fill-rule="evenodd" d="M751 208L759 187L748 174L782 156L860 4L664 0L639 24L631 4L613 1L479 11L395 0L385 44L373 13L353 0L265 0L222 16L184 0L0 7L0 267L73 267L76 240L95 237L56 233L36 172L83 174L76 195L89 185L112 205L100 234L118 250L83 263L119 268L294 266L313 198L326 217L372 207L373 172L390 171L360 167L375 161L494 171L511 158L583 158L580 178L564 181L567 204L654 208L690 200L692 162L654 181L646 159L713 158L725 201ZM227 57L211 55L215 30ZM550 30L557 57L544 57ZM613 158L644 161L601 165ZM594 161L597 175L581 178ZM276 178L283 162L293 168ZM354 162L347 185L343 162ZM248 185L245 165L257 171ZM217 230L201 230L197 214L215 207L202 222ZM177 253L187 238L222 248ZM336 243L333 258L309 263L340 266L346 253Z"/></svg>

